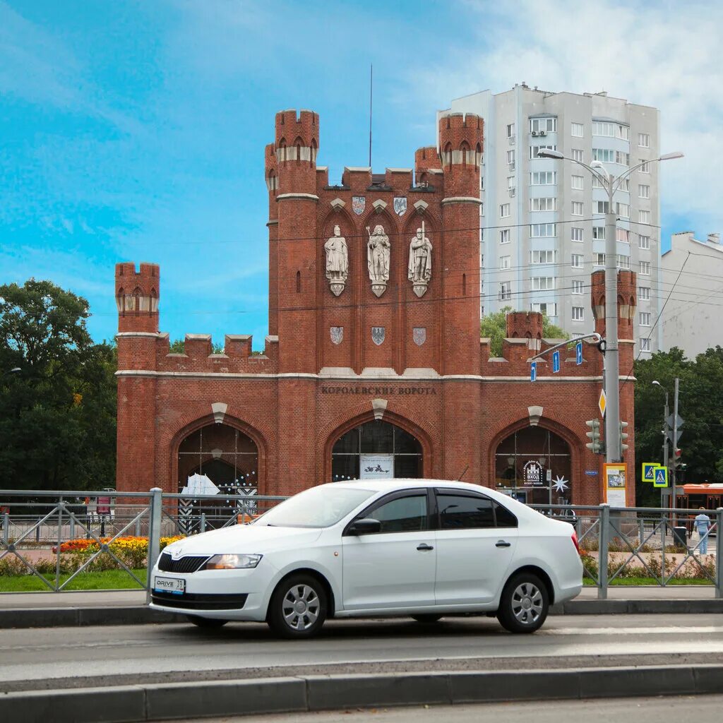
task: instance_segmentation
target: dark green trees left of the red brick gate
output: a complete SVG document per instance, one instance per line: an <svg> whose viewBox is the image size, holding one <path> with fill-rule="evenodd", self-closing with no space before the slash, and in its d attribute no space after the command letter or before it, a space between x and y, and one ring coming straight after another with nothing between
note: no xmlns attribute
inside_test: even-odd
<svg viewBox="0 0 723 723"><path fill-rule="evenodd" d="M0 469L18 489L111 487L116 348L85 299L50 281L0 286ZM20 372L9 373L20 367Z"/></svg>

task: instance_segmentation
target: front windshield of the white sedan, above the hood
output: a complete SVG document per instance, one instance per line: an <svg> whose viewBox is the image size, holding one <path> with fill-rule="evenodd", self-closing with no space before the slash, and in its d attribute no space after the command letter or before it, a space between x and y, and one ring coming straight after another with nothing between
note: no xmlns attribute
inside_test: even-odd
<svg viewBox="0 0 723 723"><path fill-rule="evenodd" d="M323 484L289 497L262 515L256 524L273 527L330 527L374 494L372 489Z"/></svg>

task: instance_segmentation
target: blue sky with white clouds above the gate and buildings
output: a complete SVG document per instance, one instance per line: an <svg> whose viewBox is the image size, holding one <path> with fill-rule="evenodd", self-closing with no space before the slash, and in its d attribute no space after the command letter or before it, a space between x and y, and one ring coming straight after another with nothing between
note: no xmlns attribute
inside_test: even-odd
<svg viewBox="0 0 723 723"><path fill-rule="evenodd" d="M332 179L411 166L452 98L526 80L662 111L662 239L722 230L717 4L0 0L0 283L49 278L116 330L114 264L161 264L161 329L267 333L263 150L321 118ZM545 22L556 17L555 22ZM603 17L609 33L599 38ZM591 38L596 45L591 54Z"/></svg>

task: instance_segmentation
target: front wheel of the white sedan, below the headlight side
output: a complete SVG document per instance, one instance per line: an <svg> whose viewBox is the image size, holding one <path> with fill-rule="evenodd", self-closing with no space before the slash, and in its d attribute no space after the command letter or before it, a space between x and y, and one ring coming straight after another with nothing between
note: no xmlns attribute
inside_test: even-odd
<svg viewBox="0 0 723 723"><path fill-rule="evenodd" d="M311 638L327 613L324 586L310 575L293 575L277 586L268 611L268 625L283 638Z"/></svg>

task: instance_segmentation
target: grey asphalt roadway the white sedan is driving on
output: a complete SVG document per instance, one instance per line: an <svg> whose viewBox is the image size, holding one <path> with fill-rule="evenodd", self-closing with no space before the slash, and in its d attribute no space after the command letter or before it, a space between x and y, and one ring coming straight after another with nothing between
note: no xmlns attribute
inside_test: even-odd
<svg viewBox="0 0 723 723"><path fill-rule="evenodd" d="M549 617L532 636L488 617L437 625L331 620L310 641L266 625L30 628L0 633L0 691L174 680L434 669L723 662L721 615Z"/></svg>

